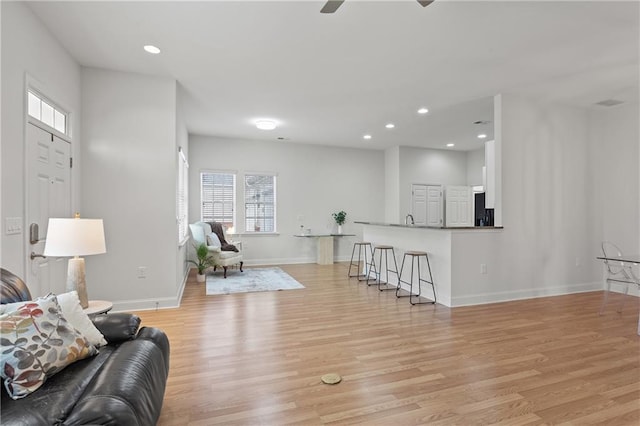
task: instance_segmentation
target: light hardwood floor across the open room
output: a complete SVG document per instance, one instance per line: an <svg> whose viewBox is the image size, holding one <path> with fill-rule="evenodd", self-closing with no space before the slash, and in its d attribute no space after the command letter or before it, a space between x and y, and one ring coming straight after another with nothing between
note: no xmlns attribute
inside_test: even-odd
<svg viewBox="0 0 640 426"><path fill-rule="evenodd" d="M637 299L410 306L347 267L284 265L305 289L222 296L190 278L179 309L138 312L171 341L159 424L640 424Z"/></svg>

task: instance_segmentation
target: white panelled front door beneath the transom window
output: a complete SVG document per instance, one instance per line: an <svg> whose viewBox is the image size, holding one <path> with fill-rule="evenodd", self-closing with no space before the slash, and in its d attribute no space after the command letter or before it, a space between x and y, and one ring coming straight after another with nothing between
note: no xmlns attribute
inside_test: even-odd
<svg viewBox="0 0 640 426"><path fill-rule="evenodd" d="M31 123L27 124L27 276L35 298L61 293L67 275L66 258L42 258L50 217L71 217L71 144ZM32 232L38 227L38 241Z"/></svg>

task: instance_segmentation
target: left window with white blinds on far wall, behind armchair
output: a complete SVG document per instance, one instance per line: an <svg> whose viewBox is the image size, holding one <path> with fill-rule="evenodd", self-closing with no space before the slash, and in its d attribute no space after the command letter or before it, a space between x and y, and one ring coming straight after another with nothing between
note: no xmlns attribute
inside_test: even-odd
<svg viewBox="0 0 640 426"><path fill-rule="evenodd" d="M202 172L200 190L202 221L220 222L226 228L235 226L236 175Z"/></svg>

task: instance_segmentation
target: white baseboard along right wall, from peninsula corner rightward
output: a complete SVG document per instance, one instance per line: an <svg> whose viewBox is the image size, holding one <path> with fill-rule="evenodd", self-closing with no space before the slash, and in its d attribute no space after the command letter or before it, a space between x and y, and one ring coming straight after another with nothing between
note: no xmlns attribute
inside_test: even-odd
<svg viewBox="0 0 640 426"><path fill-rule="evenodd" d="M499 291L451 298L451 307L484 305L487 303L509 302L512 300L535 299L538 297L560 296L602 290L601 282L540 287L526 290Z"/></svg>

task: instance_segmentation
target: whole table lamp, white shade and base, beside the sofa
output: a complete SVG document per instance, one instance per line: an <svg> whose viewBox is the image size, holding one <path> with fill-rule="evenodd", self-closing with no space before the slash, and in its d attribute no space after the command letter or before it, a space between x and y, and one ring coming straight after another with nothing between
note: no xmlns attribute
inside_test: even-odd
<svg viewBox="0 0 640 426"><path fill-rule="evenodd" d="M89 306L84 259L79 256L106 253L102 219L51 218L44 243L44 255L74 256L67 268L67 291L78 292L80 305Z"/></svg>

